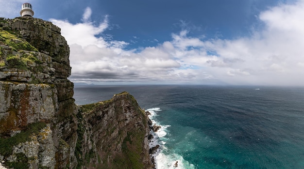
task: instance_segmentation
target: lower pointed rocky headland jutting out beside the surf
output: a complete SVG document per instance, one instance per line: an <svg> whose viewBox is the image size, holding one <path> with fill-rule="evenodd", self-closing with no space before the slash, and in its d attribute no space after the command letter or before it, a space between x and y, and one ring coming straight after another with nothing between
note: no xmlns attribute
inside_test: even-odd
<svg viewBox="0 0 304 169"><path fill-rule="evenodd" d="M83 139L76 156L91 156L89 166L152 168L148 117L132 95L122 92L111 100L82 106L78 117L83 119L78 132Z"/></svg>

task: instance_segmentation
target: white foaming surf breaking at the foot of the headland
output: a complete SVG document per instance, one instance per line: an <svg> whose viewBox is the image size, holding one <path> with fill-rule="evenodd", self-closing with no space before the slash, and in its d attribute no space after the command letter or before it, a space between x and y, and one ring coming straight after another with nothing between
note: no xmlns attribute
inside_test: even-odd
<svg viewBox="0 0 304 169"><path fill-rule="evenodd" d="M160 108L149 108L147 111L150 112L149 118L152 121L152 124L161 126L156 132L151 131L153 135L153 139L150 140L150 147L155 147L156 145L160 145L160 148L152 154L155 159L155 168L156 169L195 169L193 164L190 164L186 161L182 155L177 153L172 153L174 150L169 150L166 147L167 141L170 139L168 136L170 125L162 125L160 124L156 117L157 112L162 111ZM167 137L166 137L167 136ZM174 167L174 164L178 162L178 166Z"/></svg>

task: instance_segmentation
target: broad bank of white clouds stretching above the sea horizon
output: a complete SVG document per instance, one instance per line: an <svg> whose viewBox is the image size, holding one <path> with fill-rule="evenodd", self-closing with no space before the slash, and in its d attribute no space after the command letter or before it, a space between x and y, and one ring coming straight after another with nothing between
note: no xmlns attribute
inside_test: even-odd
<svg viewBox="0 0 304 169"><path fill-rule="evenodd" d="M264 28L250 37L207 39L173 33L172 40L140 51L125 50L124 41L108 41L108 29L90 22L86 8L83 23L51 21L62 29L70 46L71 80L228 84L304 84L304 1L280 4L262 12ZM134 37L138 39L138 37Z"/></svg>

